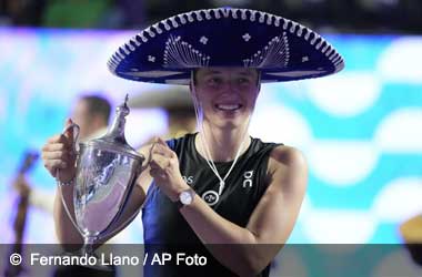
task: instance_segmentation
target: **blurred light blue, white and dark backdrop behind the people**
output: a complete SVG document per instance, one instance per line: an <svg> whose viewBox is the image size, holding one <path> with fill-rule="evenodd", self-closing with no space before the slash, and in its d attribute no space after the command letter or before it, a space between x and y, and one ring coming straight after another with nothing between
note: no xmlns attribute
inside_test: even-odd
<svg viewBox="0 0 422 277"><path fill-rule="evenodd" d="M0 244L13 242L24 153L61 132L78 96L96 93L114 109L125 93L169 89L109 73L113 51L158 20L222 6L299 21L345 60L333 76L262 86L252 135L301 148L310 165L289 243L402 243L399 224L422 213L422 1L0 0ZM168 119L164 109L133 107L129 143L165 133ZM40 161L26 178L56 189ZM141 218L121 237L142 243ZM49 212L29 209L24 242L56 242Z"/></svg>

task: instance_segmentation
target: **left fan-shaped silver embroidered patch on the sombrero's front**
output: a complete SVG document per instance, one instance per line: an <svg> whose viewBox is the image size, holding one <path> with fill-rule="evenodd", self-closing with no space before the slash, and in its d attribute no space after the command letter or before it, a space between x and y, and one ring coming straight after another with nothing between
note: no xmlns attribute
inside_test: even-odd
<svg viewBox="0 0 422 277"><path fill-rule="evenodd" d="M201 53L181 37L170 35L165 42L164 68L203 68L208 66L210 57Z"/></svg>

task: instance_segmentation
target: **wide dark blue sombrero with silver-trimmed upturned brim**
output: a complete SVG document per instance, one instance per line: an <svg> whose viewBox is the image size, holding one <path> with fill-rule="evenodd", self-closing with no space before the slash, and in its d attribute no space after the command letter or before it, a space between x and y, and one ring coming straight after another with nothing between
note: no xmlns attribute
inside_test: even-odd
<svg viewBox="0 0 422 277"><path fill-rule="evenodd" d="M178 14L142 30L108 66L133 81L189 84L198 68L254 68L262 82L282 82L329 75L344 62L325 39L298 22L218 8Z"/></svg>

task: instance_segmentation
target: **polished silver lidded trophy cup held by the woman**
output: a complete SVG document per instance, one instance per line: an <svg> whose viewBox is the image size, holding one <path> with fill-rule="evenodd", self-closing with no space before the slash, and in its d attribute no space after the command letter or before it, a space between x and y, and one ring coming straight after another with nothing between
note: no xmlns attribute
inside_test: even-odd
<svg viewBox="0 0 422 277"><path fill-rule="evenodd" d="M93 244L119 228L114 224L121 222L135 178L142 168L144 157L134 151L124 137L125 116L129 114L127 102L128 95L124 103L117 107L113 123L104 136L79 143L79 147L74 147L76 220L63 197L62 202L69 218L83 237L82 256L93 255ZM73 134L77 141L79 126L73 124L69 127L74 127ZM63 184L59 182L59 188L62 186ZM135 214L127 222L134 216Z"/></svg>

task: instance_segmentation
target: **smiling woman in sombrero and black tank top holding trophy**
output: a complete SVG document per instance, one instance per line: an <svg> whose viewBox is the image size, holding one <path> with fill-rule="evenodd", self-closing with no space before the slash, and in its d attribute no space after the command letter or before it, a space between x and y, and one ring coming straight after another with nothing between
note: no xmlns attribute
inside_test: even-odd
<svg viewBox="0 0 422 277"><path fill-rule="evenodd" d="M331 74L343 68L341 57L299 23L221 8L178 14L145 29L112 57L109 68L135 81L189 84L197 110L199 133L142 147L147 167L127 217L143 205L147 253L194 245L194 254L208 255L208 267L183 266L177 250L177 264L147 263L145 276L269 276L269 264L298 217L308 170L300 151L249 136L261 80ZM61 168L62 182L74 175L67 166L71 143L68 132L43 148L46 167L52 174ZM57 202L61 242L80 242L62 211Z"/></svg>

